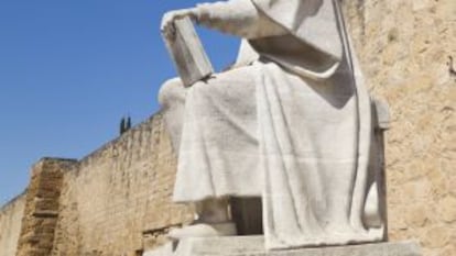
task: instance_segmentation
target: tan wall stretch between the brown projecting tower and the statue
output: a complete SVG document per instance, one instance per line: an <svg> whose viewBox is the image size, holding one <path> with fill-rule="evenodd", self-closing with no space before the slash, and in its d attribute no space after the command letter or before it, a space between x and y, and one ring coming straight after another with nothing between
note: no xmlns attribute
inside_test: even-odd
<svg viewBox="0 0 456 256"><path fill-rule="evenodd" d="M160 243L193 216L171 203L175 164L160 113L82 159L64 177L52 255L130 256Z"/></svg>

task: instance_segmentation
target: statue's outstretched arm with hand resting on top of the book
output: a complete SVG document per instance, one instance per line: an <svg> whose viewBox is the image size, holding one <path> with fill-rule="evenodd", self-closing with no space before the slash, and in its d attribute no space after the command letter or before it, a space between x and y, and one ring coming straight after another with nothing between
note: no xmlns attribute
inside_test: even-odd
<svg viewBox="0 0 456 256"><path fill-rule="evenodd" d="M243 38L286 34L286 30L260 12L250 0L202 3L195 8L171 11L163 16L162 30L174 20L189 16L200 25Z"/></svg>

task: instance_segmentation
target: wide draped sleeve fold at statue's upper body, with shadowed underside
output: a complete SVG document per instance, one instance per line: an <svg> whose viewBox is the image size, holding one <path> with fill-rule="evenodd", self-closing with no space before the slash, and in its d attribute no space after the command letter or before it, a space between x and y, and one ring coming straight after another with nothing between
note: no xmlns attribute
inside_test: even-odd
<svg viewBox="0 0 456 256"><path fill-rule="evenodd" d="M289 37L298 41L303 47L301 54L286 54L283 46L260 47L257 51L314 79L326 79L334 74L343 58L344 46L333 0L251 1L262 13L287 30Z"/></svg>

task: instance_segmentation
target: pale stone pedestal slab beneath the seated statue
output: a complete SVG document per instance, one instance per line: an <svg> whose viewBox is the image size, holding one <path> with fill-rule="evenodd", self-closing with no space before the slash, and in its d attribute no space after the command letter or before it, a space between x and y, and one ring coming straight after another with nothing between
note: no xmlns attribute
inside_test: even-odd
<svg viewBox="0 0 456 256"><path fill-rule="evenodd" d="M414 242L390 242L265 252L262 236L188 238L169 243L143 256L421 256Z"/></svg>

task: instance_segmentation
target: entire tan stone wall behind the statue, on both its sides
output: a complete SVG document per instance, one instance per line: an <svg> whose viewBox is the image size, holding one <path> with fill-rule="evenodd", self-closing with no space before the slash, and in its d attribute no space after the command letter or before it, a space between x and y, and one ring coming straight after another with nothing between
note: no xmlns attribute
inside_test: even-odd
<svg viewBox="0 0 456 256"><path fill-rule="evenodd" d="M456 255L456 1L343 2L370 90L392 112L390 240ZM175 167L161 113L80 162L44 159L26 197L0 210L0 256L14 255L21 229L18 255L133 256L156 246L192 219L171 203Z"/></svg>

